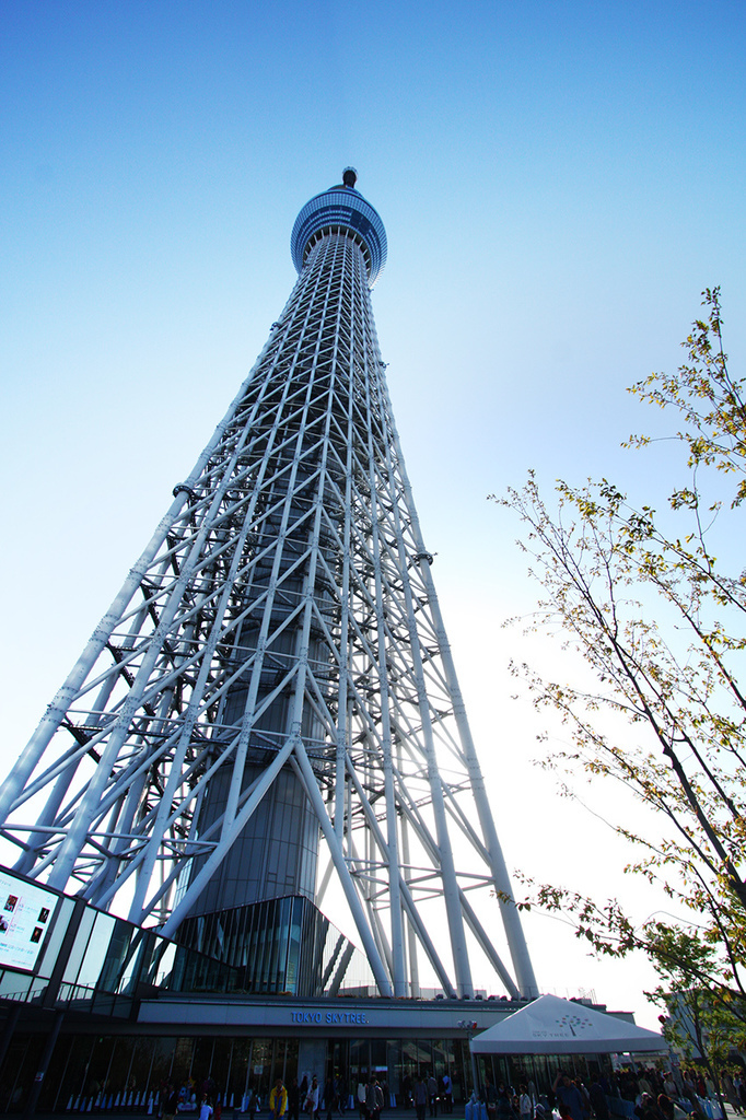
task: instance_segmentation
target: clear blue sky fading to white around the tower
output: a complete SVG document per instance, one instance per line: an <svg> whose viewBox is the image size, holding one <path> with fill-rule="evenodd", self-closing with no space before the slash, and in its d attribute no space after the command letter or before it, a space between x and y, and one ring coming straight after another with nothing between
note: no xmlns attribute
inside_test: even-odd
<svg viewBox="0 0 746 1120"><path fill-rule="evenodd" d="M505 666L560 654L500 629L537 590L486 495L532 467L645 493L619 442L663 418L625 386L679 363L705 286L744 353L745 31L735 0L2 0L0 766L263 345L296 214L352 164L389 235L379 335L509 866L646 917L608 830L531 765ZM614 818L613 791L582 795ZM544 990L654 1023L642 965L549 920L529 936Z"/></svg>

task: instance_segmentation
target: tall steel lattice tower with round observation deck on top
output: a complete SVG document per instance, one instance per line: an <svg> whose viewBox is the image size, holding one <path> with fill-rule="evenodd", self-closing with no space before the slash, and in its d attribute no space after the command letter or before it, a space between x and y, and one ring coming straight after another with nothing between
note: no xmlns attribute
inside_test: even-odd
<svg viewBox="0 0 746 1120"><path fill-rule="evenodd" d="M538 993L394 426L375 209L304 206L298 281L0 788L15 868L179 940L336 878L383 996L478 945ZM444 921L445 918L445 921ZM217 923L217 924L216 924ZM494 920L493 920L494 924ZM437 931L437 933L436 933ZM222 944L222 942L221 942ZM204 951L209 951L209 946Z"/></svg>

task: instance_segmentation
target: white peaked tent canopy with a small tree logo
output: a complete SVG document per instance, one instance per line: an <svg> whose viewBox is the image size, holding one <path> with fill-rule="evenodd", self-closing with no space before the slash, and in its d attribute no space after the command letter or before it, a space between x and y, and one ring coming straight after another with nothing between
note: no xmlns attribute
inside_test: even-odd
<svg viewBox="0 0 746 1120"><path fill-rule="evenodd" d="M669 1048L654 1030L558 996L540 996L483 1030L470 1046L474 1054L641 1054Z"/></svg>

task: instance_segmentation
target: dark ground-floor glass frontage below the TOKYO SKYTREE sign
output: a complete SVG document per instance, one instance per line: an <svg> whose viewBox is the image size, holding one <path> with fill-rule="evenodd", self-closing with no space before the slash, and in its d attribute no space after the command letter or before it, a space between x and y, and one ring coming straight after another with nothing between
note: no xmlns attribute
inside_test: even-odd
<svg viewBox="0 0 746 1120"><path fill-rule="evenodd" d="M8 1052L0 1067L0 1112L22 1110L40 1047L39 1036L21 1035ZM197 1092L209 1084L223 1110L237 1111L245 1107L250 1090L259 1093L264 1104L277 1077L287 1083L292 1077L300 1080L304 1073L315 1073L320 1085L327 1076L336 1076L347 1099L354 1099L360 1080L375 1073L386 1086L386 1111L391 1104L401 1111L410 1109L410 1084L430 1071L437 1077L450 1074L455 1103L461 1103L470 1092L468 1053L453 1042L330 1038L314 1046L315 1062L309 1061L309 1053L304 1042L288 1037L62 1035L38 1109L146 1113L152 1102L156 1114L157 1095L169 1077L179 1085L190 1081Z"/></svg>

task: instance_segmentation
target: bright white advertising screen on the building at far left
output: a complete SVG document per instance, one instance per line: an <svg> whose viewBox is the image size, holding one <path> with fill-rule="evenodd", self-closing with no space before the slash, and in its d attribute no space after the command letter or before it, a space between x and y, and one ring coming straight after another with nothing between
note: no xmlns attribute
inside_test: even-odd
<svg viewBox="0 0 746 1120"><path fill-rule="evenodd" d="M59 896L0 871L0 968L36 964Z"/></svg>

